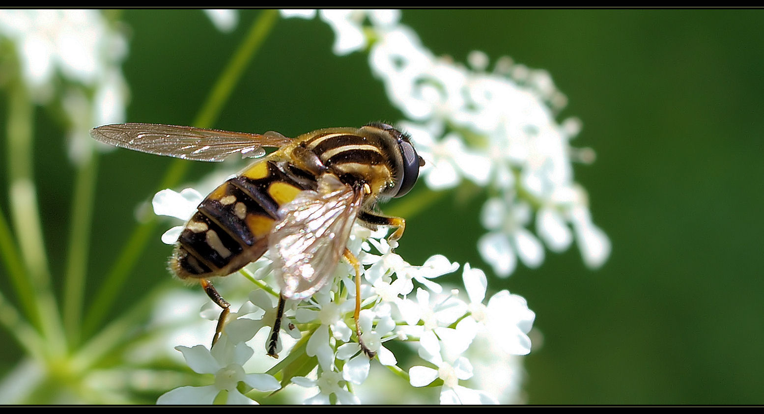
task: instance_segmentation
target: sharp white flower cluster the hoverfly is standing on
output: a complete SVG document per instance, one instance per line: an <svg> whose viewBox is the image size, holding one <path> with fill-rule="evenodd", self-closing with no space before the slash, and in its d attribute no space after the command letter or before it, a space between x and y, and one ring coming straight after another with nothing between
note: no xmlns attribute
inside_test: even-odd
<svg viewBox="0 0 764 414"><path fill-rule="evenodd" d="M154 211L187 219L191 212L189 205L200 201L201 196L194 190L180 193L163 190L154 197ZM441 403L513 402L516 395L507 390L516 391L517 383L507 382L505 389L494 390L500 395L472 388L473 365L468 355L473 341L481 341L481 346L487 341L500 350L502 358L527 354L530 351L527 333L535 314L528 309L525 299L503 290L486 302L485 274L469 264L465 264L462 273L467 295L461 296L458 289L444 289L435 280L455 272L458 264L436 255L422 266L413 266L393 253L384 235L356 225L348 243L348 249L362 264L361 338L377 357L370 361L354 338L354 270L349 264L341 263L334 283L310 299L286 303L281 335L283 339L292 338L292 347L286 351L289 356L281 360L286 365L277 366L277 370L286 375L293 372L293 367L304 368L311 357L316 358L313 364L317 369L312 370L312 377L286 377L287 381L282 380L281 384L291 382L313 389L304 403L361 403L354 387L364 383L372 365L378 363L406 377L413 387L439 381L435 385L442 384ZM267 286L277 286L267 257L253 266L257 268L256 279ZM274 325L276 307L276 295L255 289L249 302L228 315L225 333L211 351L202 345L177 347L189 367L199 374L214 374L215 381L206 387L171 390L158 402L209 404L225 391L228 403L254 403L239 392L240 383L260 391L279 389L280 384L274 377L264 373L247 374L244 370L253 355L264 357L264 344L255 344L261 349L258 353L245 342L251 341L261 329L269 330ZM206 313L215 319L217 312ZM390 341L412 346L422 357L422 364L411 367L406 374L397 366L398 357L387 346ZM481 352L474 354L479 355L474 360L478 364L485 362L481 358L496 357Z"/></svg>

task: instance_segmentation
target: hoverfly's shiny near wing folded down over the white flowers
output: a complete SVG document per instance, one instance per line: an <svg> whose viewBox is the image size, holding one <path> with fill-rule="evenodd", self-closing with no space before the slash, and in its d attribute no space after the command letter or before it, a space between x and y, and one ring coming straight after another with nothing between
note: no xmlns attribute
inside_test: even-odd
<svg viewBox="0 0 764 414"><path fill-rule="evenodd" d="M300 192L281 207L269 249L284 296L305 299L332 280L362 199L362 192L324 174L317 191Z"/></svg>

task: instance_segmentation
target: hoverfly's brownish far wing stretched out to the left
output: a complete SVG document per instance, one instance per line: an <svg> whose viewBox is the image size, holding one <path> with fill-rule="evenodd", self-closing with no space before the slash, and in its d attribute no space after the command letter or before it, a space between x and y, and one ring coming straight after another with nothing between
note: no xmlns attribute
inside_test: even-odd
<svg viewBox="0 0 764 414"><path fill-rule="evenodd" d="M290 138L269 132L220 131L162 124L114 124L90 130L96 141L148 154L166 155L187 160L218 162L231 154L261 157L263 147L281 147Z"/></svg>

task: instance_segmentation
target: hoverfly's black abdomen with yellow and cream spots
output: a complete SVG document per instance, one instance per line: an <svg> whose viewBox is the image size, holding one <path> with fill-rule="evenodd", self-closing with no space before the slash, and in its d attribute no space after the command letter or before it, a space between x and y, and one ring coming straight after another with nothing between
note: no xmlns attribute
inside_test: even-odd
<svg viewBox="0 0 764 414"><path fill-rule="evenodd" d="M225 276L257 260L279 207L303 189L316 189L315 176L285 161L254 163L199 204L178 238L171 270L180 279Z"/></svg>

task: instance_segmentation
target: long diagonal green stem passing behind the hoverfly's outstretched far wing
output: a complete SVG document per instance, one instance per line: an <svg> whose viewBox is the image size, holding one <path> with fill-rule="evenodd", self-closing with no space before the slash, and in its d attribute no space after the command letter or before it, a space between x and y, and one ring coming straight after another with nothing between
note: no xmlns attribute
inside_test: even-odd
<svg viewBox="0 0 764 414"><path fill-rule="evenodd" d="M271 28L277 21L278 12L274 10L264 10L253 22L250 31L234 53L225 70L219 76L215 86L207 97L206 103L199 111L199 115L194 119L193 125L200 128L209 128L215 122L220 114L223 105L227 102L231 91L244 73L261 44L270 33ZM186 173L191 163L183 160L175 160L167 170L159 189L176 186L180 183L183 174ZM107 274L105 281L95 299L90 306L89 312L83 322L83 335L91 335L95 329L103 322L103 318L108 314L114 303L116 296L121 292L122 286L132 273L132 270L141 257L147 242L154 237L154 228L157 222L154 216L151 216L146 222L138 225L125 248L122 249L120 256L115 262L112 270Z"/></svg>

